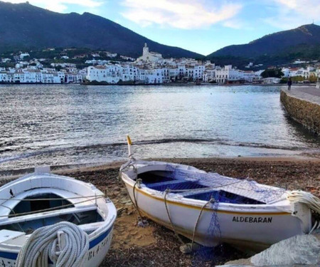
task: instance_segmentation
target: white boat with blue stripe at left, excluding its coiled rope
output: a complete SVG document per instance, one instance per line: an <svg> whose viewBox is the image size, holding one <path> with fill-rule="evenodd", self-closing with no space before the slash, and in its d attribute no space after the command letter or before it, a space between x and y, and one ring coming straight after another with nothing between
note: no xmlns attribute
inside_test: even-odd
<svg viewBox="0 0 320 267"><path fill-rule="evenodd" d="M86 241L81 240L87 249L81 266L99 266L112 240L114 204L90 183L48 172L50 168L38 168L0 187L0 265L17 266L18 253L36 231L68 222L86 233ZM67 246L64 234L58 233L61 250ZM46 261L55 266L51 258Z"/></svg>

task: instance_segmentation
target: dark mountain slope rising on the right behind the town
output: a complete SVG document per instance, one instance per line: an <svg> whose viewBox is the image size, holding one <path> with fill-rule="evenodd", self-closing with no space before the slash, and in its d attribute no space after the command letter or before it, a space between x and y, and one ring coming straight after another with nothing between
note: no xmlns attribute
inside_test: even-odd
<svg viewBox="0 0 320 267"><path fill-rule="evenodd" d="M226 46L207 58L274 58L291 60L295 56L318 56L320 26L308 24L289 31L272 33L242 45ZM311 50L310 50L311 49Z"/></svg>

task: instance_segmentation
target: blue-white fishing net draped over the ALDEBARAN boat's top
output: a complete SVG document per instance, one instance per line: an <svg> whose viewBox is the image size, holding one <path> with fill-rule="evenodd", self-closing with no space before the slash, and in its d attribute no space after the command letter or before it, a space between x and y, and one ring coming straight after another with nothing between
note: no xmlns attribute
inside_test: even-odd
<svg viewBox="0 0 320 267"><path fill-rule="evenodd" d="M214 197L235 204L270 204L284 197L285 189L258 184L250 179L235 179L212 172L197 172L167 165L170 181L154 184L154 189L171 189L183 197L208 201Z"/></svg>

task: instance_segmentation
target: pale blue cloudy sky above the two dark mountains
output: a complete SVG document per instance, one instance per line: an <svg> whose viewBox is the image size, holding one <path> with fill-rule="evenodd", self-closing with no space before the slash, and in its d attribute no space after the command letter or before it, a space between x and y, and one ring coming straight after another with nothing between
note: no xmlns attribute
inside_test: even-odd
<svg viewBox="0 0 320 267"><path fill-rule="evenodd" d="M153 41L203 55L277 31L313 22L320 24L320 0L29 0L29 3L59 13L90 12Z"/></svg>

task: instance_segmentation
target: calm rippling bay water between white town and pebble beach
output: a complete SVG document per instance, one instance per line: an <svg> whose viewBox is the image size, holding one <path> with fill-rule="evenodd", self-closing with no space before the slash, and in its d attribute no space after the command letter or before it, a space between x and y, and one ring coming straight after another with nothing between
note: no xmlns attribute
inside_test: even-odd
<svg viewBox="0 0 320 267"><path fill-rule="evenodd" d="M287 117L279 87L0 86L0 170L127 158L319 152Z"/></svg>

